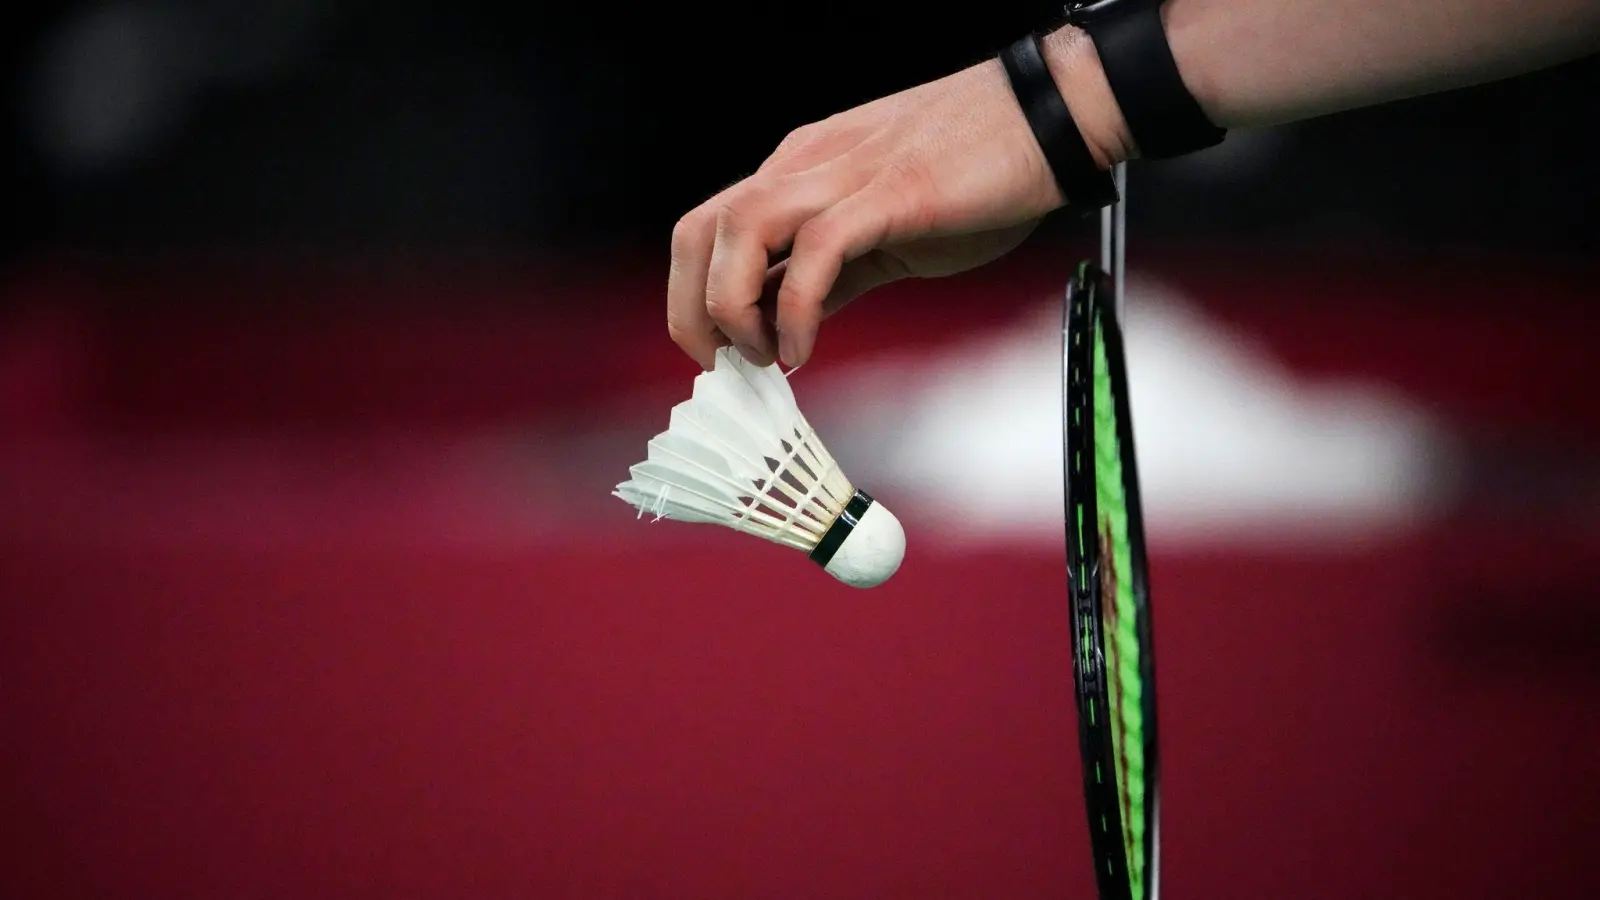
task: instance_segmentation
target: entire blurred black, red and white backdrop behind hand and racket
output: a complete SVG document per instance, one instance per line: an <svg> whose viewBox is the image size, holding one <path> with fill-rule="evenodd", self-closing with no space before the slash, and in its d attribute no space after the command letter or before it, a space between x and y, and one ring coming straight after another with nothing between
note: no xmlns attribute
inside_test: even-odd
<svg viewBox="0 0 1600 900"><path fill-rule="evenodd" d="M795 376L861 594L608 496L677 216L1053 5L11 11L0 895L1088 897L1058 296ZM1594 897L1600 66L1134 165L1168 897Z"/></svg>

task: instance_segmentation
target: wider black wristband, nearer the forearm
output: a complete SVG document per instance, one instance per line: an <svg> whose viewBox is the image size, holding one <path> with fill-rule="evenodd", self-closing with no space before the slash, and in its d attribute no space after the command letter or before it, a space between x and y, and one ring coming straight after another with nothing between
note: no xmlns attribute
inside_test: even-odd
<svg viewBox="0 0 1600 900"><path fill-rule="evenodd" d="M1162 26L1162 0L1072 3L1067 21L1090 34L1128 136L1144 159L1171 159L1222 143L1184 85Z"/></svg>

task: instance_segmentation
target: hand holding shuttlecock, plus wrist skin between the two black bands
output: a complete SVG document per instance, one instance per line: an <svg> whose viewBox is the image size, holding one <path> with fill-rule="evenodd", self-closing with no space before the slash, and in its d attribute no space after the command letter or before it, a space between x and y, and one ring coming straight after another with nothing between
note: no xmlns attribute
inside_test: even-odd
<svg viewBox="0 0 1600 900"><path fill-rule="evenodd" d="M1077 34L1045 42L1064 86L1077 62L1098 69ZM1110 96L1104 75L1077 98L1064 93L1109 165L1110 143L1091 135L1107 131L1085 127ZM760 365L803 365L822 319L851 299L990 263L1061 203L992 59L794 131L755 175L683 216L672 232L667 330L706 368L730 343Z"/></svg>

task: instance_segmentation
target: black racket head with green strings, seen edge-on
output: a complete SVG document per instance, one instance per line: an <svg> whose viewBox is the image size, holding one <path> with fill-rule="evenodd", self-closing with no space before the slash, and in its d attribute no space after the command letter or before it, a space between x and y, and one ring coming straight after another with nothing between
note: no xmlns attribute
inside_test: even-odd
<svg viewBox="0 0 1600 900"><path fill-rule="evenodd" d="M1101 900L1158 897L1160 769L1144 516L1122 325L1082 263L1062 312L1067 591L1083 796Z"/></svg>

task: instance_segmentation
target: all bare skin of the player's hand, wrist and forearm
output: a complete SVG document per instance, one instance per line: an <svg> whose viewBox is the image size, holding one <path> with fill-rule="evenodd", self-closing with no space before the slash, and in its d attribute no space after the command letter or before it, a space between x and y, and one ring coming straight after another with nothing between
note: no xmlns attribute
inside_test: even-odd
<svg viewBox="0 0 1600 900"><path fill-rule="evenodd" d="M1168 0L1184 83L1222 128L1504 78L1600 50L1600 0ZM1045 61L1101 168L1138 157L1086 35ZM1064 203L998 61L790 133L672 232L667 330L704 368L811 359L822 320L883 283L1010 253Z"/></svg>

